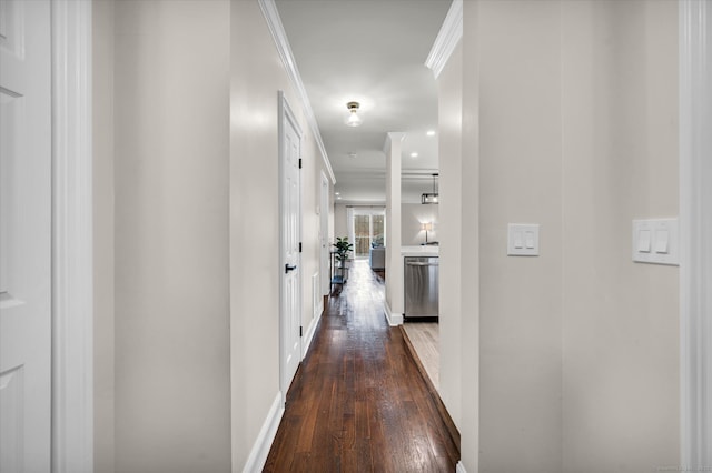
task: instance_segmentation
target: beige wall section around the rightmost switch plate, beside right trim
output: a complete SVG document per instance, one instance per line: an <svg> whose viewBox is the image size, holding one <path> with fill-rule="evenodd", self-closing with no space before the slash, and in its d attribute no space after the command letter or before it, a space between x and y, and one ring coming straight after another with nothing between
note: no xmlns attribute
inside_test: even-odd
<svg viewBox="0 0 712 473"><path fill-rule="evenodd" d="M678 6L562 4L563 470L676 466L679 270L631 220L679 213Z"/></svg>

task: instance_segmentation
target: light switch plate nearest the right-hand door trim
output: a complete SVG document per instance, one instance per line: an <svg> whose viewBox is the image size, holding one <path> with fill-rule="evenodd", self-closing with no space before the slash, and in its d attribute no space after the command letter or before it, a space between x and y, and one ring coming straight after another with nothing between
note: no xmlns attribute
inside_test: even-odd
<svg viewBox="0 0 712 473"><path fill-rule="evenodd" d="M680 265L678 219L633 220L633 261Z"/></svg>

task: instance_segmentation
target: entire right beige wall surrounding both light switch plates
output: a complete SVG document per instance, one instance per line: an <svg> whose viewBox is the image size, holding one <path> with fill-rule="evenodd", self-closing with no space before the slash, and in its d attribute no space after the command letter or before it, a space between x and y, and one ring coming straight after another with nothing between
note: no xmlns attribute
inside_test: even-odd
<svg viewBox="0 0 712 473"><path fill-rule="evenodd" d="M676 6L464 7L464 465L676 465L678 269L633 263L630 236L678 214ZM541 224L538 258L506 256L516 222Z"/></svg>

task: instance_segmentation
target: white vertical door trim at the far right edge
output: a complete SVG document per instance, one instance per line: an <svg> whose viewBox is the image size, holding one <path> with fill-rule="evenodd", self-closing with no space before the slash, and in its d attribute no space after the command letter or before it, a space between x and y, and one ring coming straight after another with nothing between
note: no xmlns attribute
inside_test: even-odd
<svg viewBox="0 0 712 473"><path fill-rule="evenodd" d="M680 2L681 466L712 466L712 6Z"/></svg>

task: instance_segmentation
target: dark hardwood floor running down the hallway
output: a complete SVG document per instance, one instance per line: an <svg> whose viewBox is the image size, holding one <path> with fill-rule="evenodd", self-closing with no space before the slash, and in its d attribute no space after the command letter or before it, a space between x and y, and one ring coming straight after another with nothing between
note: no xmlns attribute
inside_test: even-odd
<svg viewBox="0 0 712 473"><path fill-rule="evenodd" d="M459 459L384 285L356 262L287 394L265 472L454 472Z"/></svg>

